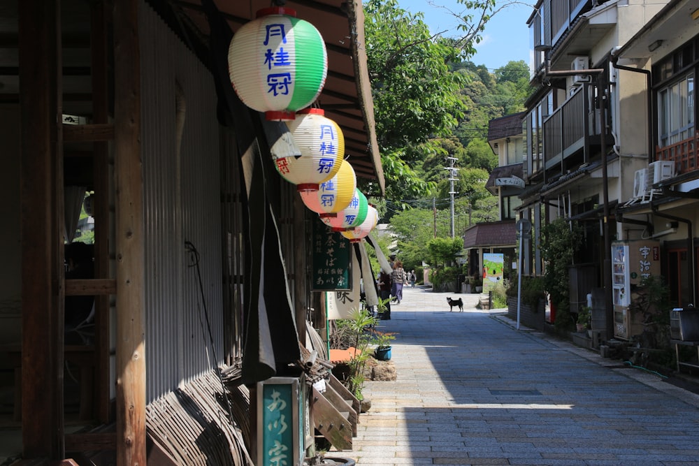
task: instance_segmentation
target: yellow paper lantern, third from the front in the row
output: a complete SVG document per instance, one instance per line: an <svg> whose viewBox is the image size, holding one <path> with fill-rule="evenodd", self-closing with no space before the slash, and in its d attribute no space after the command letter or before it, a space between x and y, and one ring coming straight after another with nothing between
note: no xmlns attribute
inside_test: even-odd
<svg viewBox="0 0 699 466"><path fill-rule="evenodd" d="M301 201L317 214L337 214L352 202L355 189L354 168L343 160L338 173L321 183L317 191L301 191Z"/></svg>

